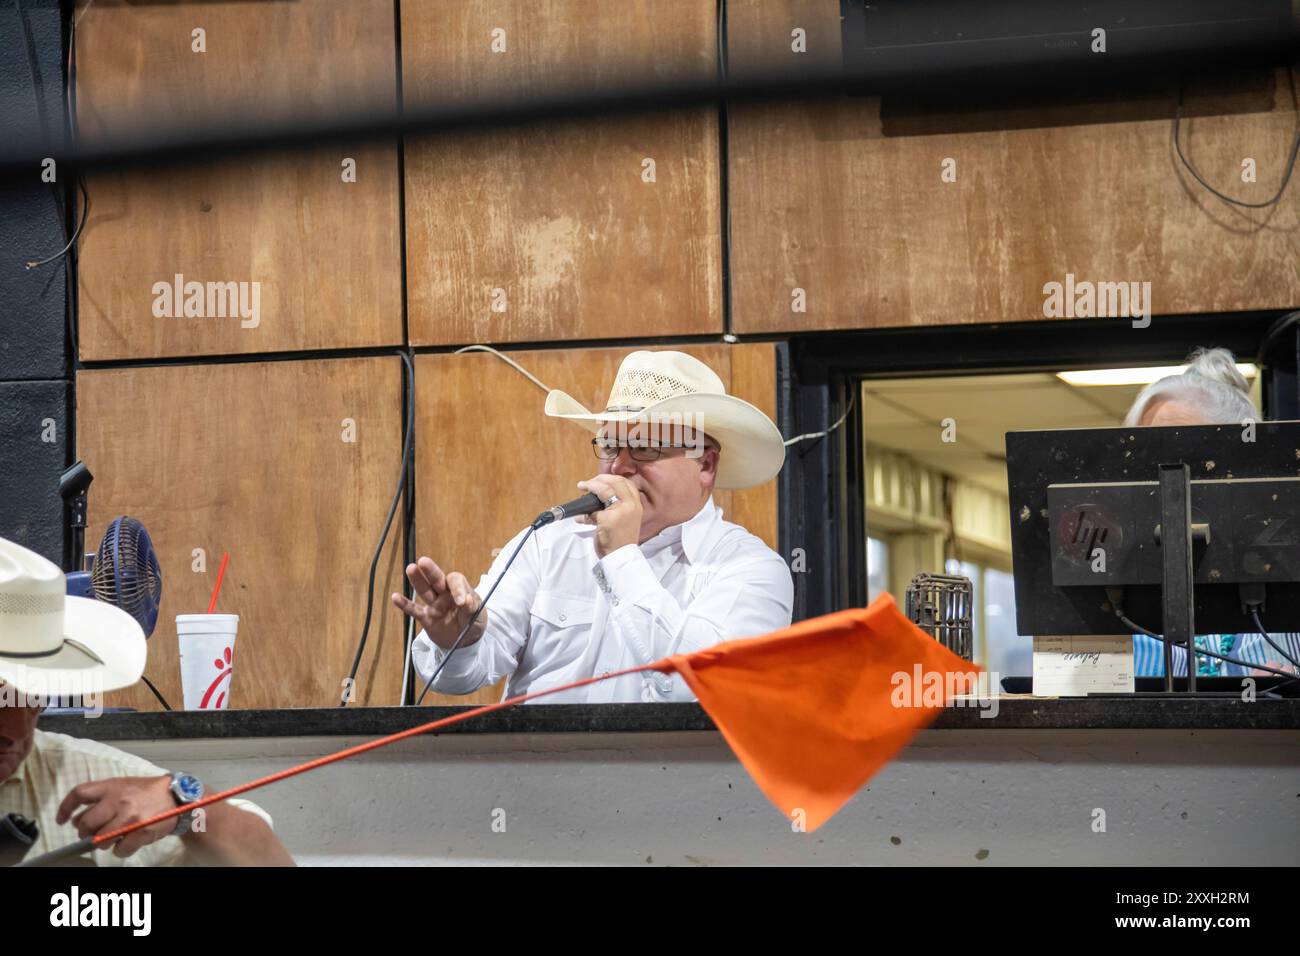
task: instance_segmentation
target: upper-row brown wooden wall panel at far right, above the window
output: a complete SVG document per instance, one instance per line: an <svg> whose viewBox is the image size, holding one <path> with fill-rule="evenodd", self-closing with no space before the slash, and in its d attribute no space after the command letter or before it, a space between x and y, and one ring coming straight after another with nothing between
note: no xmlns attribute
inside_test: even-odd
<svg viewBox="0 0 1300 956"><path fill-rule="evenodd" d="M841 60L837 0L728 0L731 68ZM806 33L806 53L792 31ZM1296 133L1286 70L1192 90L1184 152L1257 202ZM771 334L1043 319L1046 282L1150 282L1158 313L1294 307L1300 190L1212 198L1170 139L1176 91L918 111L879 98L732 108L732 328ZM1258 181L1244 185L1242 160ZM941 179L956 161L956 182ZM794 311L794 290L805 311Z"/></svg>

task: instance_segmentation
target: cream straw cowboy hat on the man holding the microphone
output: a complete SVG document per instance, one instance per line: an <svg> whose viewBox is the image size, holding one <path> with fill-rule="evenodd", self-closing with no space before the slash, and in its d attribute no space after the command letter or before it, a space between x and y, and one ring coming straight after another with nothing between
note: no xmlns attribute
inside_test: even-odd
<svg viewBox="0 0 1300 956"><path fill-rule="evenodd" d="M623 359L604 411L588 411L551 389L546 414L598 432L606 421L671 421L698 428L722 446L718 488L749 488L772 479L785 462L781 433L762 411L728 395L723 380L685 352L636 351Z"/></svg>

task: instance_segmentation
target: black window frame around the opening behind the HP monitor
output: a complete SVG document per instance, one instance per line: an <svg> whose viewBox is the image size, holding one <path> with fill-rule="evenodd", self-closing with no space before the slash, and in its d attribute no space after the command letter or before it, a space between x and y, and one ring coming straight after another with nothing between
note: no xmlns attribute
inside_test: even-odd
<svg viewBox="0 0 1300 956"><path fill-rule="evenodd" d="M777 342L777 424L784 434L820 432L848 410L831 434L786 450L777 481L777 541L794 568L794 620L867 602L863 423L853 401L862 380L1178 364L1199 346L1256 360L1287 312L1153 316L1145 329L1127 319L1070 319L818 332ZM1266 358L1265 418L1300 419L1300 325L1275 336Z"/></svg>

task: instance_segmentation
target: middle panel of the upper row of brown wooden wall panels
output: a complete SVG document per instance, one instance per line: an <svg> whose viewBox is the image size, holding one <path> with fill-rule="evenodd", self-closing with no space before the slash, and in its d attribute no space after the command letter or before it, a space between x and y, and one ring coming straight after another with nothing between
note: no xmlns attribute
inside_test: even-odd
<svg viewBox="0 0 1300 956"><path fill-rule="evenodd" d="M407 0L403 94L708 77L715 10ZM718 126L694 109L407 143L412 345L722 334Z"/></svg>

